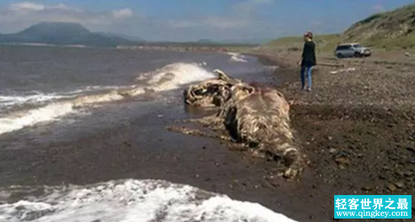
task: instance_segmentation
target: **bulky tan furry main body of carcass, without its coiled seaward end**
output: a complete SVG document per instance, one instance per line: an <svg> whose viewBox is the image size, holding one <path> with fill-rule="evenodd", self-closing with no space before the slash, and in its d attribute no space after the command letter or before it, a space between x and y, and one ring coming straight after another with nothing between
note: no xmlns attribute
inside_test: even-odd
<svg viewBox="0 0 415 222"><path fill-rule="evenodd" d="M239 142L255 154L283 160L284 176L302 172L304 161L290 126L289 103L276 89L260 84L235 84L218 118Z"/></svg>

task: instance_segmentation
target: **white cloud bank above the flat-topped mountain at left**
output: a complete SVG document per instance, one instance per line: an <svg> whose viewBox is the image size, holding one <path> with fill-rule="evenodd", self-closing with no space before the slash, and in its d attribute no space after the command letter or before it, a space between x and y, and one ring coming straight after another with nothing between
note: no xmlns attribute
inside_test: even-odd
<svg viewBox="0 0 415 222"><path fill-rule="evenodd" d="M42 4L30 1L12 3L0 10L0 30L16 32L40 21L76 22L88 28L100 29L133 17L129 8L108 11L82 10L64 3Z"/></svg>

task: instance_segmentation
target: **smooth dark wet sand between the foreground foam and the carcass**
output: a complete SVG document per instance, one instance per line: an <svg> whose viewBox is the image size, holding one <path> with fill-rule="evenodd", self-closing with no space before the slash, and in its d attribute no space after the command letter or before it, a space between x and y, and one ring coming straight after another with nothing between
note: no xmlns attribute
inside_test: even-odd
<svg viewBox="0 0 415 222"><path fill-rule="evenodd" d="M311 185L282 180L271 183L264 177L275 163L231 151L212 139L166 131L164 127L182 112L182 107L177 107L152 113L131 121L129 126L113 127L70 142L51 142L48 147L2 150L0 186L86 185L123 178L155 178L262 203L296 219L309 216L303 208L315 200L301 201L305 205L293 200L300 198L296 190L310 189Z"/></svg>

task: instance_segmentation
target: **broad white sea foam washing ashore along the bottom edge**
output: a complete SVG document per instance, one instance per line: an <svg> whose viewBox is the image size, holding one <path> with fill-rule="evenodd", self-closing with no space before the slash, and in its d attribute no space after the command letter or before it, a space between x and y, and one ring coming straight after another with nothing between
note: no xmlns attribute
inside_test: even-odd
<svg viewBox="0 0 415 222"><path fill-rule="evenodd" d="M294 222L258 203L166 181L110 181L47 190L39 198L0 205L0 221Z"/></svg>

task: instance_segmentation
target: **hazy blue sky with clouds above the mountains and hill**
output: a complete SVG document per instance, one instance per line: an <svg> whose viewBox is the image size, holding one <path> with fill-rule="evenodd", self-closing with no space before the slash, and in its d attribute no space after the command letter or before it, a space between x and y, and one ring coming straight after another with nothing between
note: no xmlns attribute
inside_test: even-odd
<svg viewBox="0 0 415 222"><path fill-rule="evenodd" d="M409 3L415 0L1 0L0 33L68 21L151 41L275 39L340 33Z"/></svg>

